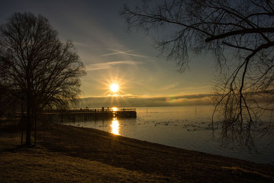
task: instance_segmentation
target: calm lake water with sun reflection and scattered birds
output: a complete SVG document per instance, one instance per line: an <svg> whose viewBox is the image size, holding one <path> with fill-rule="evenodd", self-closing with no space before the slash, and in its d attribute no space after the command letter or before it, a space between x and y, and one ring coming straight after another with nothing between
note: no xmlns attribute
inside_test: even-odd
<svg viewBox="0 0 274 183"><path fill-rule="evenodd" d="M264 125L266 123L260 122L251 132L251 139L248 143L242 143L242 140L238 138L232 141L232 139L221 138L221 122L214 123L213 133L212 111L213 106L136 108L136 119L83 121L65 124L92 127L121 136L182 149L274 164L274 130L272 124L270 124L269 130L265 131ZM269 117L266 116L266 119Z"/></svg>

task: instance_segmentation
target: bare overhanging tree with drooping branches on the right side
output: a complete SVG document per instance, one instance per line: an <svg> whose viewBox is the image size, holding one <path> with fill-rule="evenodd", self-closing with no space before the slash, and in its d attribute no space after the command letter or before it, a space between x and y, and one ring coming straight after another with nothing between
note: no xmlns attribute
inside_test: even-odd
<svg viewBox="0 0 274 183"><path fill-rule="evenodd" d="M221 71L215 110L223 110L225 127L237 126L241 134L262 110L274 110L273 1L157 3L143 1L136 8L124 5L121 15L129 29L158 30L162 39L155 46L168 59L177 60L180 71L188 67L189 52L214 54Z"/></svg>

